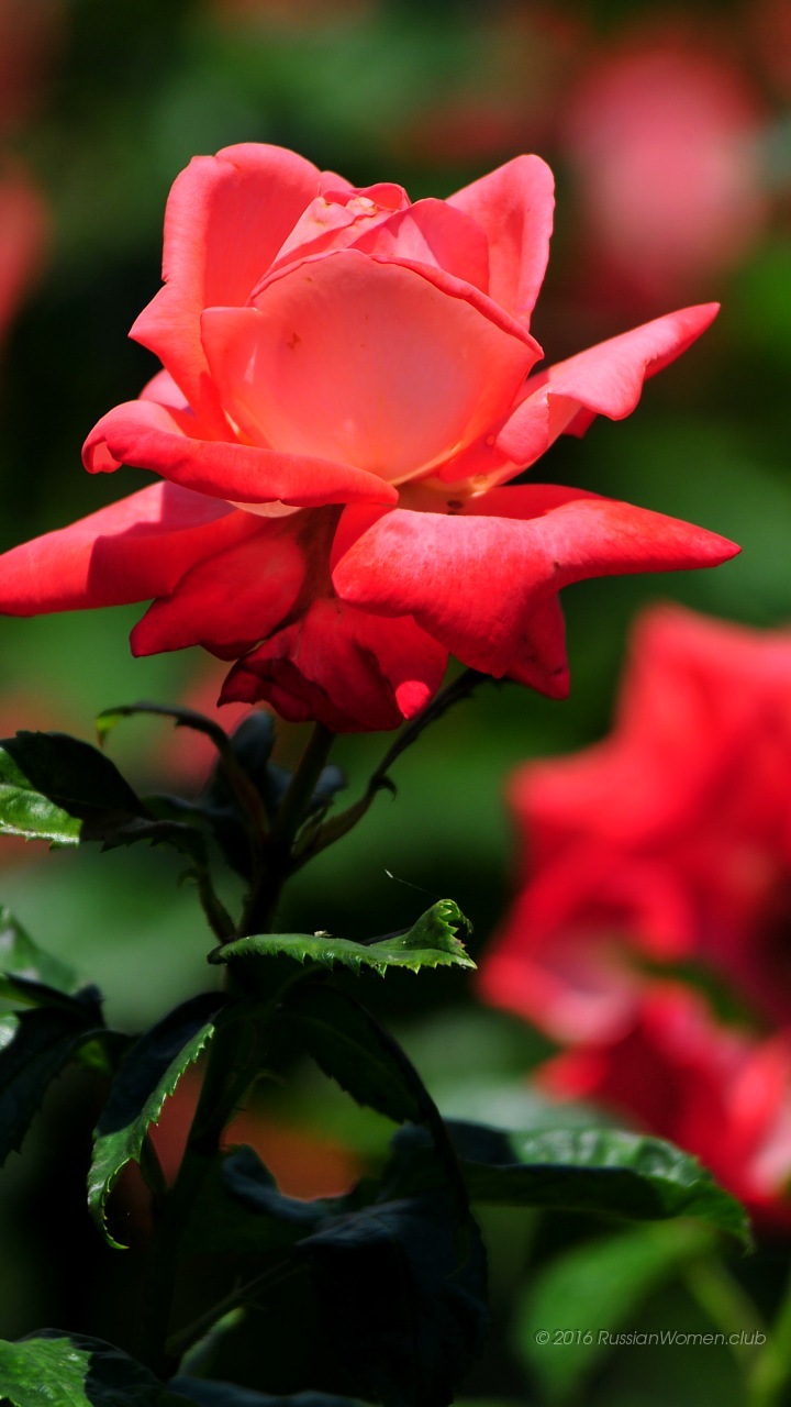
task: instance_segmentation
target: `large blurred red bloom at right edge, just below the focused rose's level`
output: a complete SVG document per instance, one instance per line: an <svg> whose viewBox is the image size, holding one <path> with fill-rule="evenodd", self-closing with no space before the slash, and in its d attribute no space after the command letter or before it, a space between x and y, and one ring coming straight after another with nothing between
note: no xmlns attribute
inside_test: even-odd
<svg viewBox="0 0 791 1407"><path fill-rule="evenodd" d="M615 1040L652 969L694 964L790 1023L790 796L791 632L647 611L611 736L512 781L525 864L484 996Z"/></svg>

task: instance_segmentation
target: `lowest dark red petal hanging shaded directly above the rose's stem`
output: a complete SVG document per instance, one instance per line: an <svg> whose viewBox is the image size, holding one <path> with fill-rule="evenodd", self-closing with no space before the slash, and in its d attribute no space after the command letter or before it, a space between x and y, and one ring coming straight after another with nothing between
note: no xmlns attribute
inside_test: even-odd
<svg viewBox="0 0 791 1407"><path fill-rule="evenodd" d="M289 722L318 719L338 733L398 727L434 696L446 663L408 616L381 620L324 598L239 660L221 702L266 699Z"/></svg>

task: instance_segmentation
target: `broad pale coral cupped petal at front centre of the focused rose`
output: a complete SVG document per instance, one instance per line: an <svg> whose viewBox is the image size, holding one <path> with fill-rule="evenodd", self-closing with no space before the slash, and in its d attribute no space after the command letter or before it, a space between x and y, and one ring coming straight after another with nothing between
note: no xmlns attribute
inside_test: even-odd
<svg viewBox="0 0 791 1407"><path fill-rule="evenodd" d="M356 250L287 270L258 308L210 310L203 339L248 438L387 480L497 424L533 360L464 297Z"/></svg>

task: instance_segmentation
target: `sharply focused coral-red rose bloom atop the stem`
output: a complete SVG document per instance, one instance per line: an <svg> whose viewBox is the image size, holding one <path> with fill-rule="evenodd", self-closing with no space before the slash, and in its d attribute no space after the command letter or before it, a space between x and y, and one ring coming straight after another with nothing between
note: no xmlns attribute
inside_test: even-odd
<svg viewBox="0 0 791 1407"><path fill-rule="evenodd" d="M628 415L715 305L535 371L552 176L519 156L446 201L356 190L276 146L198 156L132 336L163 369L84 446L160 481L0 559L15 615L153 604L135 654L234 661L222 699L394 727L449 651L567 691L557 592L723 561L732 543L559 485L510 487L562 432Z"/></svg>

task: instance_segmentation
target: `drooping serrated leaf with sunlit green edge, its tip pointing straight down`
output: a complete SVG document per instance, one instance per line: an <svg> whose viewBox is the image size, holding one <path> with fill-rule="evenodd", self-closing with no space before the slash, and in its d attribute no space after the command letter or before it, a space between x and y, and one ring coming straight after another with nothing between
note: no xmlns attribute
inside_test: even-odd
<svg viewBox="0 0 791 1407"><path fill-rule="evenodd" d="M211 1040L224 999L205 992L175 1007L129 1050L111 1085L94 1131L93 1161L87 1179L90 1211L110 1245L122 1248L106 1227L106 1207L121 1171L139 1162L151 1124L182 1075Z"/></svg>

